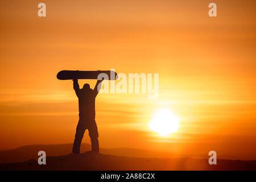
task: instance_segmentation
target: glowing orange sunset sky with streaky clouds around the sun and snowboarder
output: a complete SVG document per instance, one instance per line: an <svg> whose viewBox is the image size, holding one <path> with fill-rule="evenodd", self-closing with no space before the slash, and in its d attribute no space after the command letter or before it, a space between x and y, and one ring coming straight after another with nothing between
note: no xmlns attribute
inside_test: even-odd
<svg viewBox="0 0 256 182"><path fill-rule="evenodd" d="M159 73L159 97L99 94L102 147L256 160L256 3L214 1L210 18L210 2L1 1L0 148L72 143L78 101L57 72L114 68ZM181 118L168 138L148 129L160 107Z"/></svg>

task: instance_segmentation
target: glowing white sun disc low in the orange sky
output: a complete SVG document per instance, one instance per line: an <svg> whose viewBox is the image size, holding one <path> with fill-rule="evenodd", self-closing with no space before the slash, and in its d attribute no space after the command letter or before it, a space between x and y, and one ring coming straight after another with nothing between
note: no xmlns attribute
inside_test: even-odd
<svg viewBox="0 0 256 182"><path fill-rule="evenodd" d="M167 137L179 129L179 118L167 108L156 111L151 122L148 124L152 131Z"/></svg>

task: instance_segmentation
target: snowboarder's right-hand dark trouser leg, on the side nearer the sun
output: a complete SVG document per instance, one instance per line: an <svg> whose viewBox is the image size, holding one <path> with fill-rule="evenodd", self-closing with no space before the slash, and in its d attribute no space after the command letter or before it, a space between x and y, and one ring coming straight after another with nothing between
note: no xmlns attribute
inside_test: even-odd
<svg viewBox="0 0 256 182"><path fill-rule="evenodd" d="M97 129L95 119L93 119L93 120L94 121L88 127L90 142L92 143L92 151L93 152L100 152L100 149L99 149L99 146L98 146L98 129Z"/></svg>

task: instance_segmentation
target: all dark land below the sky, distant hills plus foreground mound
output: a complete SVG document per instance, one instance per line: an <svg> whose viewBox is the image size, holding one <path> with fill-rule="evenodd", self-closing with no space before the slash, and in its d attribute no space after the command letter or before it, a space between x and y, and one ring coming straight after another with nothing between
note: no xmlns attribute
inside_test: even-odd
<svg viewBox="0 0 256 182"><path fill-rule="evenodd" d="M85 153L67 155L71 148L72 144L33 145L1 151L0 163L6 164L0 164L0 170L256 170L255 160L217 159L217 165L209 165L208 159L170 158L170 154L132 148L102 148L102 154L97 154L85 152L90 150L85 143L81 145ZM39 150L46 151L46 165L38 164Z"/></svg>

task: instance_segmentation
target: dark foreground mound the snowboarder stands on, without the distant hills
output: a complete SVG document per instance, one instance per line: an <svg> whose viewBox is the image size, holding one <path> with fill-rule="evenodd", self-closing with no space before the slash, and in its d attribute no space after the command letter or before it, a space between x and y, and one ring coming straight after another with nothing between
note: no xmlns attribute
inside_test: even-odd
<svg viewBox="0 0 256 182"><path fill-rule="evenodd" d="M37 160L0 164L0 170L256 170L256 161L217 160L193 158L129 158L85 152L77 155L49 156L46 165Z"/></svg>

